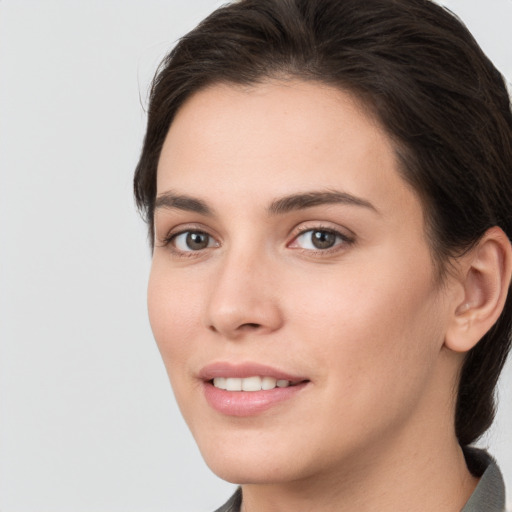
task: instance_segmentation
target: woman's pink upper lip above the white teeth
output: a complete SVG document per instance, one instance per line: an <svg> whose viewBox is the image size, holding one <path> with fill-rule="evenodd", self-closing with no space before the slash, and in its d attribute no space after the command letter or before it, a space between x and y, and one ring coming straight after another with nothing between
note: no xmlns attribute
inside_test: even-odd
<svg viewBox="0 0 512 512"><path fill-rule="evenodd" d="M199 371L199 378L204 381L209 381L215 377L274 377L277 380L288 380L290 382L301 382L308 380L300 375L292 375L288 372L282 371L272 366L265 364L246 362L246 363L229 363L218 361L204 366Z"/></svg>

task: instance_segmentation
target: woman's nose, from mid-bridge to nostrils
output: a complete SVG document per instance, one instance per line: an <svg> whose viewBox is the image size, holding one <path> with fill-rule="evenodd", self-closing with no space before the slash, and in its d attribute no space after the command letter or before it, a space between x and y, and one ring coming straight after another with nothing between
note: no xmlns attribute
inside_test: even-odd
<svg viewBox="0 0 512 512"><path fill-rule="evenodd" d="M276 269L262 256L233 251L215 268L206 324L225 338L268 334L283 324Z"/></svg>

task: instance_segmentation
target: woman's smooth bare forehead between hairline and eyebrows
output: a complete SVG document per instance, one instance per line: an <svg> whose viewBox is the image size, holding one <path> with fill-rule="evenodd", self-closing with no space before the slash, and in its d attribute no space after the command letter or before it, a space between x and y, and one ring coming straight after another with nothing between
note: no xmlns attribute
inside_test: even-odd
<svg viewBox="0 0 512 512"><path fill-rule="evenodd" d="M379 123L353 95L317 82L199 91L178 111L158 165L158 194L178 189L214 202L221 194L264 203L321 188L384 210L419 207Z"/></svg>

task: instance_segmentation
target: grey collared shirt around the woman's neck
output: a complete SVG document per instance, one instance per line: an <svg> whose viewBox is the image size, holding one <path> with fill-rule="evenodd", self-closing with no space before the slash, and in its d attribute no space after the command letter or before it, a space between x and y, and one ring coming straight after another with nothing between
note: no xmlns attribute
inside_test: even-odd
<svg viewBox="0 0 512 512"><path fill-rule="evenodd" d="M465 448L464 456L469 470L480 477L480 482L461 512L505 512L505 483L494 459L476 448ZM215 512L240 512L241 504L242 491L238 488Z"/></svg>

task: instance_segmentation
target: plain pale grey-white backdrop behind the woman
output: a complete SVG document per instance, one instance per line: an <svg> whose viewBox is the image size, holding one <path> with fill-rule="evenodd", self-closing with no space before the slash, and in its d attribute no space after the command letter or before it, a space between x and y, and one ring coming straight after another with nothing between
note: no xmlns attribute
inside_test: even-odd
<svg viewBox="0 0 512 512"><path fill-rule="evenodd" d="M0 510L208 512L146 313L148 86L222 2L0 0ZM445 2L512 80L512 1ZM482 441L512 493L512 368Z"/></svg>

